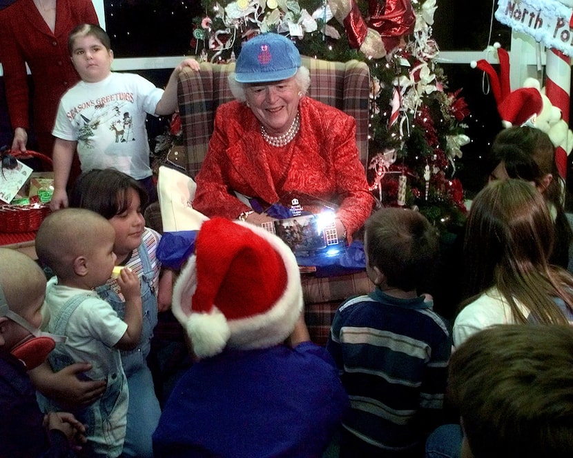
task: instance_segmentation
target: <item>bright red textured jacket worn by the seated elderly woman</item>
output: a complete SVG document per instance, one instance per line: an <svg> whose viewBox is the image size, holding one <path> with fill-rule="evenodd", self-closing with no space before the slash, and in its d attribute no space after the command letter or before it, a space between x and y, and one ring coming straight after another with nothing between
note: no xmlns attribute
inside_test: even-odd
<svg viewBox="0 0 573 458"><path fill-rule="evenodd" d="M208 152L197 174L193 208L208 217L235 219L250 210L234 191L275 203L289 191L337 203L349 235L369 217L374 199L358 159L356 121L304 97L300 131L288 146L263 140L251 108L232 101L217 109Z"/></svg>

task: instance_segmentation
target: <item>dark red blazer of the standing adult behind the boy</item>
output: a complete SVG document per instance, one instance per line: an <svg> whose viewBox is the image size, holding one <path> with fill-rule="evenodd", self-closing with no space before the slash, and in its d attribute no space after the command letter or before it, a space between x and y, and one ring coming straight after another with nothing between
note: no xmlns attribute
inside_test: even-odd
<svg viewBox="0 0 573 458"><path fill-rule="evenodd" d="M32 0L18 0L0 11L0 61L12 129L30 129L28 63L35 87L34 130L51 132L60 97L79 81L68 34L84 22L99 24L91 0L57 0L55 33Z"/></svg>

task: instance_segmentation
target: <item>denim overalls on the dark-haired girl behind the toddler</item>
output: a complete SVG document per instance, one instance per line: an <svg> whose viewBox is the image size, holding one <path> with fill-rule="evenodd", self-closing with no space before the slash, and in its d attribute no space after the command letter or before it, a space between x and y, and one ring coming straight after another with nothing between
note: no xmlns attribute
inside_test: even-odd
<svg viewBox="0 0 573 458"><path fill-rule="evenodd" d="M127 412L127 432L124 442L124 457L153 457L151 435L157 423L161 408L155 396L153 377L147 366L153 328L157 325L157 297L153 290L155 272L146 245L142 242L138 248L142 263L141 294L143 325L142 337L133 350L122 351L122 362L129 389L129 406ZM96 292L108 302L119 318L124 319L125 302L108 284L96 288Z"/></svg>

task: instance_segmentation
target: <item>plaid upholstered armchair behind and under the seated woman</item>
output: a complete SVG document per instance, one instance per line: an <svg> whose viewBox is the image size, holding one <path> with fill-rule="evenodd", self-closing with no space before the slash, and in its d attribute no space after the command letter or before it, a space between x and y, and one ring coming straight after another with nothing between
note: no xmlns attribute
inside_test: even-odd
<svg viewBox="0 0 573 458"><path fill-rule="evenodd" d="M364 62L331 62L302 57L310 70L309 96L335 106L356 119L356 141L360 160L368 163L369 69ZM227 77L234 63L201 63L200 72L185 69L179 75L178 97L181 115L184 157L178 164L195 178L205 158L213 132L215 111L220 104L233 100ZM325 344L334 313L350 295L371 291L365 272L340 277L318 278L302 274L306 321L311 338Z"/></svg>

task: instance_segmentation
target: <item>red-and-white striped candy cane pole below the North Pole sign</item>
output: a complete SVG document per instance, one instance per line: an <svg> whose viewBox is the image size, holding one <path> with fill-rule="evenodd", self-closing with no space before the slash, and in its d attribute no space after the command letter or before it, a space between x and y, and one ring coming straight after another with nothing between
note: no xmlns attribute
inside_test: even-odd
<svg viewBox="0 0 573 458"><path fill-rule="evenodd" d="M569 123L569 105L571 88L571 58L555 49L547 50L547 63L545 67L547 81L545 81L545 94L553 106L561 110L563 120ZM567 175L567 152L560 146L556 148L555 161L559 175L563 179Z"/></svg>

